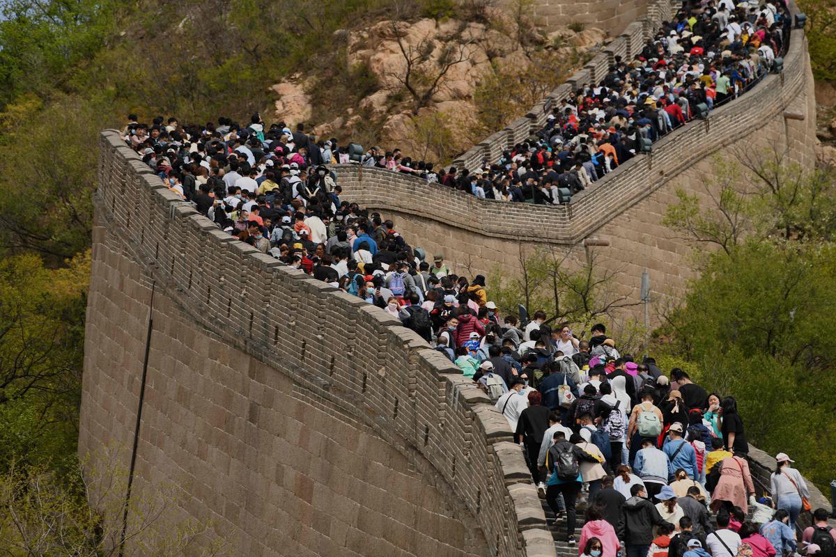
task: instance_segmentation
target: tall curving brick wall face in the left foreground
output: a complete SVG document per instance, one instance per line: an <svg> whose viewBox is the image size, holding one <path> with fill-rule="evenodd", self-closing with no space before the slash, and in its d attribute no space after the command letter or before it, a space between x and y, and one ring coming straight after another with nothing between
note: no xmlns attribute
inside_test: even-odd
<svg viewBox="0 0 836 557"><path fill-rule="evenodd" d="M230 554L554 554L507 421L387 316L218 230L101 135L79 454ZM95 490L95 488L94 488ZM115 519L115 517L110 517Z"/></svg>

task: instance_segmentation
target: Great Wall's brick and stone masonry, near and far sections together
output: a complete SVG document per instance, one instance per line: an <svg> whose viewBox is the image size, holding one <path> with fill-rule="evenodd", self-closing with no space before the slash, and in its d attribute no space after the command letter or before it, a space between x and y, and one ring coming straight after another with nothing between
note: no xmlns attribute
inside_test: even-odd
<svg viewBox="0 0 836 557"><path fill-rule="evenodd" d="M670 15L670 4L666 14L660 5L650 3L648 18L583 72L632 56ZM712 153L786 137L789 156L812 164L812 76L800 30L785 68L577 196L571 213L356 167L340 167L339 183L429 253L472 246L481 271L512 266L518 241L582 251L595 235L624 267L625 293L637 296L645 257L655 283L675 292L691 276L689 248L660 215L675 188L706 195ZM542 114L535 107L467 156L481 162L526 137ZM432 207L430 195L441 198ZM101 135L94 203L79 453L117 447L128 463L136 441L135 484L167 483L181 495L163 524L210 520L232 554L251 557L556 554L507 421L415 333L218 230L112 130ZM757 450L751 458L767 482L774 460ZM813 505L826 499L815 492Z"/></svg>

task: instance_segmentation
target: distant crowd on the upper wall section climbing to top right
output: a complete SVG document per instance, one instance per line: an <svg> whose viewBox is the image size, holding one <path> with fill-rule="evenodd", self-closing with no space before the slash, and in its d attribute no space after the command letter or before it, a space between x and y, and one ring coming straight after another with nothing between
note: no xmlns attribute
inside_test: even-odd
<svg viewBox="0 0 836 557"><path fill-rule="evenodd" d="M560 99L533 139L478 169L433 170L399 149L369 149L366 166L418 175L482 199L558 205L657 139L757 83L781 55L792 25L783 0L686 0L675 18L597 84Z"/></svg>

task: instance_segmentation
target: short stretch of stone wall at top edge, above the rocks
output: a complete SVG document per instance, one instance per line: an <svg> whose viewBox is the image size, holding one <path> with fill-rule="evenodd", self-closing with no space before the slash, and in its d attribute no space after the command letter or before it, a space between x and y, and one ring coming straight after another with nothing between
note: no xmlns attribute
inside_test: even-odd
<svg viewBox="0 0 836 557"><path fill-rule="evenodd" d="M548 30L583 23L615 34L643 18L647 3L648 0L538 0L534 5L534 22Z"/></svg>

